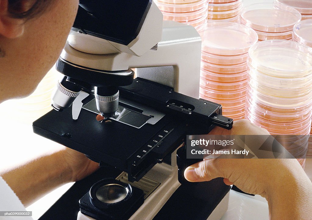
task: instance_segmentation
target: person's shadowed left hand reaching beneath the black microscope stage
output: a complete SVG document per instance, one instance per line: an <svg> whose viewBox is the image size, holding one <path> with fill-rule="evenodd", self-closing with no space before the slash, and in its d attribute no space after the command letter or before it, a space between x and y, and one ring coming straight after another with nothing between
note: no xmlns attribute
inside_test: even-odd
<svg viewBox="0 0 312 220"><path fill-rule="evenodd" d="M97 169L99 169L99 164L88 159L83 153L75 151L71 148L66 147L62 151L63 161L65 165L71 171L69 176L71 182L76 182L89 176Z"/></svg>

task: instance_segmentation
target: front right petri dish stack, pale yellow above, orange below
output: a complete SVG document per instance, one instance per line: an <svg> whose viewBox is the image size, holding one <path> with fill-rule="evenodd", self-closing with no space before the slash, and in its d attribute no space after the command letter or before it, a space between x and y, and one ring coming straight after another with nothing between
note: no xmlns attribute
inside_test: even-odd
<svg viewBox="0 0 312 220"><path fill-rule="evenodd" d="M258 42L249 49L247 71L246 119L271 135L287 135L290 144L284 147L304 166L312 116L312 49L287 40ZM294 147L298 137L300 147Z"/></svg>

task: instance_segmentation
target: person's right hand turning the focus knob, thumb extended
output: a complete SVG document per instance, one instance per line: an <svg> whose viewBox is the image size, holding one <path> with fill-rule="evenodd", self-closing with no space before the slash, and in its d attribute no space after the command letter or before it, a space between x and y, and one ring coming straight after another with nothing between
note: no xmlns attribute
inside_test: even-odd
<svg viewBox="0 0 312 220"><path fill-rule="evenodd" d="M269 135L246 119L234 122L231 130L214 128L214 135ZM266 197L271 188L280 184L285 175L294 178L294 173L302 173L295 159L208 159L189 166L184 176L188 181L209 181L223 177L227 185L236 185L246 193Z"/></svg>

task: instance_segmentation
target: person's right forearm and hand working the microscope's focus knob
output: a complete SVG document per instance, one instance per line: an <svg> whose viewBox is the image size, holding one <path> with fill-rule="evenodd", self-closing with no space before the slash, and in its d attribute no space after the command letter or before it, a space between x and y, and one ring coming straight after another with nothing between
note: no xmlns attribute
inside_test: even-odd
<svg viewBox="0 0 312 220"><path fill-rule="evenodd" d="M268 135L247 120L231 130L215 128L210 134ZM184 176L191 182L223 177L246 193L265 197L271 219L311 219L312 183L296 159L208 159L189 166Z"/></svg>

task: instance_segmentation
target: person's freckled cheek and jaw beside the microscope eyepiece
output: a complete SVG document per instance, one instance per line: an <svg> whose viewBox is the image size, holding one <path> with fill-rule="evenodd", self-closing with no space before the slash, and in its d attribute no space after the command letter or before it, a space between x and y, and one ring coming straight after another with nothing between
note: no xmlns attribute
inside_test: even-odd
<svg viewBox="0 0 312 220"><path fill-rule="evenodd" d="M37 87L66 43L78 3L53 0L41 16L24 24L22 35L13 39L0 35L0 48L5 53L0 58L0 103L27 96Z"/></svg>

